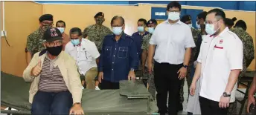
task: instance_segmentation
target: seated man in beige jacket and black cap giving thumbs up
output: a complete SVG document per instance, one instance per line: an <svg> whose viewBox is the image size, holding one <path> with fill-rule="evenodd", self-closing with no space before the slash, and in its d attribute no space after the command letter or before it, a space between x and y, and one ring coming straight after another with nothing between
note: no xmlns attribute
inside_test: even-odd
<svg viewBox="0 0 256 115"><path fill-rule="evenodd" d="M83 114L79 73L74 59L62 51L60 30L48 28L43 39L46 49L35 53L23 73L25 82L32 82L31 114Z"/></svg>

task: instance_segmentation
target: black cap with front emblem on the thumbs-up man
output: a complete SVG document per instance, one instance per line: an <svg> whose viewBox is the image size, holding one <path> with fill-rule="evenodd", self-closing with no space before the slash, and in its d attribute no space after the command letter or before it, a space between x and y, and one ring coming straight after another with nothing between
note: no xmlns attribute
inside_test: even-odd
<svg viewBox="0 0 256 115"><path fill-rule="evenodd" d="M55 40L63 39L63 35L58 28L50 27L45 31L43 39L45 39L46 42L54 42Z"/></svg>

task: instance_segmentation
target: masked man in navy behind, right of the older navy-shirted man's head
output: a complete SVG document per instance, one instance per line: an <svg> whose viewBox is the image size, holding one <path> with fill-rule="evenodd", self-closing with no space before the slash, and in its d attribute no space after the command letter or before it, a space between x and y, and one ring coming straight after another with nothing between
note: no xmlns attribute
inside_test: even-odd
<svg viewBox="0 0 256 115"><path fill-rule="evenodd" d="M138 58L141 61L141 45L143 42L143 37L147 35L149 32L147 32L145 29L147 27L147 20L146 19L138 19L138 32L135 32L132 34L132 38L134 39L137 47L137 52L138 52Z"/></svg>

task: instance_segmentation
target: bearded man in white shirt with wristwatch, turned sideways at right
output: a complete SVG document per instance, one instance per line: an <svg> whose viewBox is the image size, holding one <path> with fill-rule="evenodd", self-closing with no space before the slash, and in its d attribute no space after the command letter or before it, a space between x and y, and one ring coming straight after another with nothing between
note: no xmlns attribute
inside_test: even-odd
<svg viewBox="0 0 256 115"><path fill-rule="evenodd" d="M237 78L243 69L243 43L225 25L225 13L210 10L197 59L196 73L191 84L194 93L196 80L201 76L199 102L202 115L226 115L235 100Z"/></svg>

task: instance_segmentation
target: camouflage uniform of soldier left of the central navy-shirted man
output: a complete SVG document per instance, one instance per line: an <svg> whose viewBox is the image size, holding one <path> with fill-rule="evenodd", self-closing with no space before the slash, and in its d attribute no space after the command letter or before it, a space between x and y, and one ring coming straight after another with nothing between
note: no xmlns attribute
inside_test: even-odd
<svg viewBox="0 0 256 115"><path fill-rule="evenodd" d="M112 31L109 29L109 27L104 25L92 24L83 30L83 38L88 36L90 41L95 42L97 50L99 51L101 50L104 37L109 34L112 34Z"/></svg>

